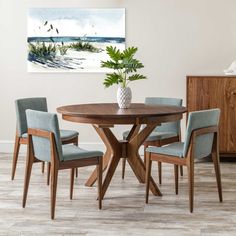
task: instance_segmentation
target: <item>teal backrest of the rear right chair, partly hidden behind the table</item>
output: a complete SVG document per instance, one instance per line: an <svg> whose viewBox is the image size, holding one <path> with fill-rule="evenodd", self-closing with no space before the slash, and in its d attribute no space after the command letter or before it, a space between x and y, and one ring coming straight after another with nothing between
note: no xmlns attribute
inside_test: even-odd
<svg viewBox="0 0 236 236"><path fill-rule="evenodd" d="M183 100L180 98L163 98L163 97L147 97L145 98L145 104L148 105L170 105L170 106L182 106ZM180 121L162 123L157 126L154 131L156 132L173 132L180 134Z"/></svg>

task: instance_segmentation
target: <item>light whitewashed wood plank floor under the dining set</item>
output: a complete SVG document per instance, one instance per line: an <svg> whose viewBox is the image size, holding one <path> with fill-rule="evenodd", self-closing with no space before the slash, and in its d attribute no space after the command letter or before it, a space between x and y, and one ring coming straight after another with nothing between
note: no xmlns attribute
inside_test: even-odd
<svg viewBox="0 0 236 236"><path fill-rule="evenodd" d="M56 219L50 220L46 174L35 164L27 206L21 207L24 157L14 181L10 180L12 157L0 154L0 235L236 235L236 163L221 163L223 198L219 203L212 163L197 163L194 213L189 213L186 170L174 194L173 167L164 165L163 197L150 194L129 168L121 179L121 166L98 210L96 186L84 186L91 168L79 169L74 199L69 200L69 172L59 175ZM156 165L153 168L156 178Z"/></svg>

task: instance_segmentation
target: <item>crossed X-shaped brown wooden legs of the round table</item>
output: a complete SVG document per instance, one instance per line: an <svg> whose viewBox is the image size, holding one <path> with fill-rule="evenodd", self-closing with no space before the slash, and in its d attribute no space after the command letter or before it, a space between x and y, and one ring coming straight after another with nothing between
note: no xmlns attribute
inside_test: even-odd
<svg viewBox="0 0 236 236"><path fill-rule="evenodd" d="M107 148L103 158L103 171L105 171L106 168L108 169L102 184L102 197L104 197L118 166L120 158L122 157L126 157L139 182L144 183L146 169L142 159L140 158L138 150L146 140L146 138L149 136L149 134L154 130L156 124L148 124L141 131L139 131L141 125L133 125L131 131L129 132L128 138L125 141L118 141L115 135L112 133L111 129L107 126L93 125L93 127L95 128ZM85 185L92 186L95 183L96 179L97 172L96 170L94 170ZM150 180L150 190L154 195L162 196L153 178L151 178Z"/></svg>

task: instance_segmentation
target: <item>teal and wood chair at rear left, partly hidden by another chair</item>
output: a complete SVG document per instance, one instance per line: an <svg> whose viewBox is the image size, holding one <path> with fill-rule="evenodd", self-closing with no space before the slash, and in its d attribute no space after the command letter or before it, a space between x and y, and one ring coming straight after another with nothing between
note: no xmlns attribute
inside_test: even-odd
<svg viewBox="0 0 236 236"><path fill-rule="evenodd" d="M17 160L21 144L28 143L27 134L27 120L26 120L26 109L33 109L38 111L47 112L47 100L45 97L34 97L34 98L22 98L15 101L16 117L17 117L17 129L15 135L15 146L12 162L12 174L11 179L14 180ZM62 139L62 144L73 143L78 145L78 135L79 133L74 130L60 130L60 137ZM44 162L42 163L42 172L44 172ZM76 170L77 175L77 170ZM47 183L49 184L50 176L50 164L48 165L48 176Z"/></svg>

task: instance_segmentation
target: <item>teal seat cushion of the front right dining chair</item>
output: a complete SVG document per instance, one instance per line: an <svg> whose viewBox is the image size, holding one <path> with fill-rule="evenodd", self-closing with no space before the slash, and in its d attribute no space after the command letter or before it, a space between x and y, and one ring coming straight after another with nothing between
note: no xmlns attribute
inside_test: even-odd
<svg viewBox="0 0 236 236"><path fill-rule="evenodd" d="M146 148L147 152L170 155L170 156L178 156L181 158L183 158L183 150L184 150L183 142L175 142L162 147L150 146Z"/></svg>

